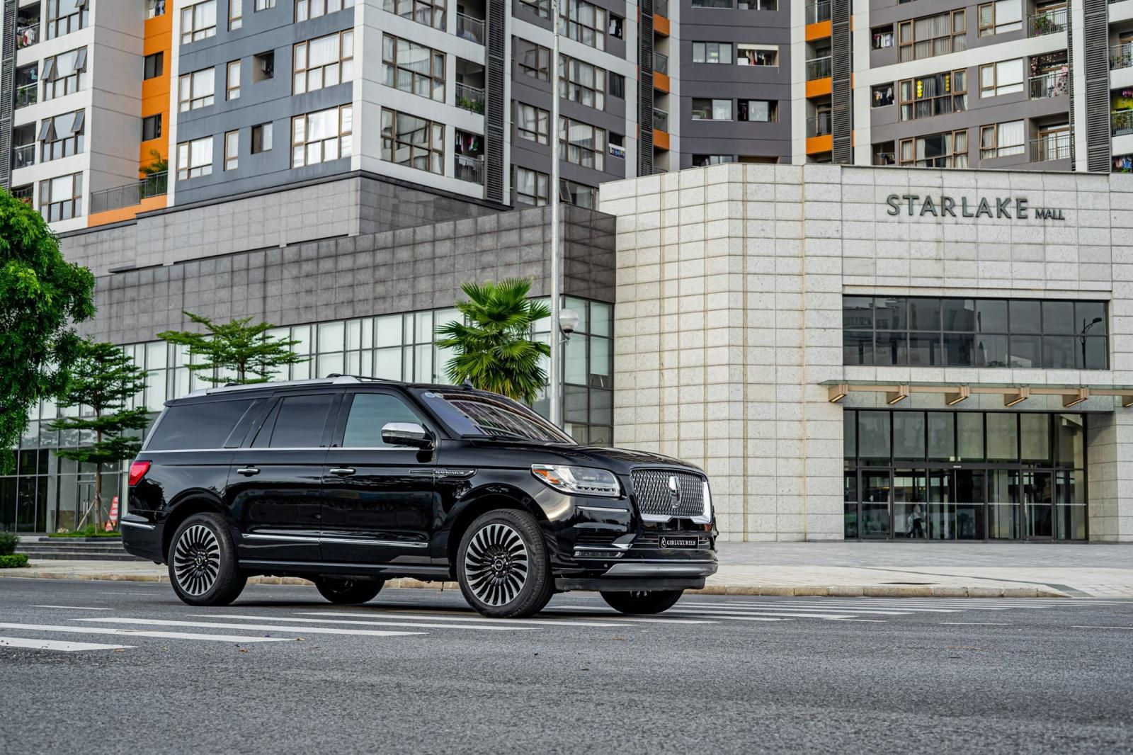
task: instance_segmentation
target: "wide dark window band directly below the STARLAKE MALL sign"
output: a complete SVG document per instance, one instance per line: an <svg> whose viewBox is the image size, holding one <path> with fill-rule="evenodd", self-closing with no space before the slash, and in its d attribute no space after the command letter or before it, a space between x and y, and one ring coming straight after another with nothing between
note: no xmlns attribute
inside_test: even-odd
<svg viewBox="0 0 1133 755"><path fill-rule="evenodd" d="M1106 370L1104 302L842 298L843 363Z"/></svg>

